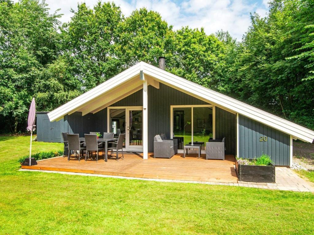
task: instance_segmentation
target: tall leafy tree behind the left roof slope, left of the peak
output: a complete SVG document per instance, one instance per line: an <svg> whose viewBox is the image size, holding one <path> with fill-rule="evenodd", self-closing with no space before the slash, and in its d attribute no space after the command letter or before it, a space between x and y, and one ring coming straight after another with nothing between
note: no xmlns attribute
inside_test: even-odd
<svg viewBox="0 0 314 235"><path fill-rule="evenodd" d="M114 3L98 2L93 9L82 3L72 12L71 21L62 27L62 49L70 73L89 90L120 71L114 42L123 17Z"/></svg>

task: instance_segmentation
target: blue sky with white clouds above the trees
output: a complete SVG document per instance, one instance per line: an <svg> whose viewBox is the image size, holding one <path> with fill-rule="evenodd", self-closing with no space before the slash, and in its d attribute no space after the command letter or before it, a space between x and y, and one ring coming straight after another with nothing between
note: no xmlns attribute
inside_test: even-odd
<svg viewBox="0 0 314 235"><path fill-rule="evenodd" d="M93 7L98 0L46 0L53 13L61 8L64 14L61 22L67 22L73 16L70 9L77 9L77 4L85 2ZM203 27L206 34L218 30L229 31L231 36L241 41L242 35L250 25L250 12L265 16L268 12L268 0L111 0L121 7L124 16L133 10L146 7L160 13L161 17L173 25L174 29L182 26Z"/></svg>

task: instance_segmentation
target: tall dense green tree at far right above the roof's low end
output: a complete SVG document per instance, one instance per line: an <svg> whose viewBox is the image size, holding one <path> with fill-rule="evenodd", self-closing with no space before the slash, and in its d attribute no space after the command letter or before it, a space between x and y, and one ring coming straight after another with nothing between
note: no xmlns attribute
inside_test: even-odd
<svg viewBox="0 0 314 235"><path fill-rule="evenodd" d="M237 93L244 101L314 128L311 40L305 27L314 22L313 1L269 4L265 18L252 14L243 38Z"/></svg>

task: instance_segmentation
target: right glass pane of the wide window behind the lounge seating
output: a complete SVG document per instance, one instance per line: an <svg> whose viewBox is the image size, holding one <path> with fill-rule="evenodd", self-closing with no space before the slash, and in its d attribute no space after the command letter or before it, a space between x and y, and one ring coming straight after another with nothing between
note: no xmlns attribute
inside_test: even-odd
<svg viewBox="0 0 314 235"><path fill-rule="evenodd" d="M193 142L204 142L213 138L213 109L211 107L193 108Z"/></svg>

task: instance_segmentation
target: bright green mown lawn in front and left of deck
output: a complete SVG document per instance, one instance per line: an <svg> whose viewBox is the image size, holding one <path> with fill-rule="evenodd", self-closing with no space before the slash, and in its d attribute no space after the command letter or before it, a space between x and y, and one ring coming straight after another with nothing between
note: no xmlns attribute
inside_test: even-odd
<svg viewBox="0 0 314 235"><path fill-rule="evenodd" d="M28 140L0 137L1 234L314 233L311 193L18 171Z"/></svg>

